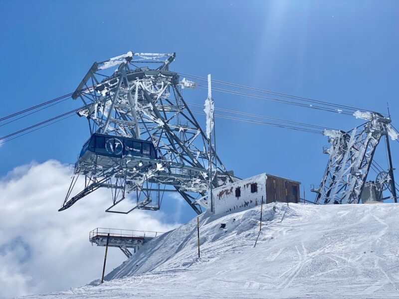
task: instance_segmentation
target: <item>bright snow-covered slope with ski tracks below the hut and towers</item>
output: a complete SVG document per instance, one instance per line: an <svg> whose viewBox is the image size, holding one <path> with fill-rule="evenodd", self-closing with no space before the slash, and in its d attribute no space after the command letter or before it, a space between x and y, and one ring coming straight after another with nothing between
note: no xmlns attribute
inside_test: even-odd
<svg viewBox="0 0 399 299"><path fill-rule="evenodd" d="M260 233L259 215L260 207L201 215L200 259L193 219L106 283L43 297L399 298L398 204L268 204Z"/></svg>

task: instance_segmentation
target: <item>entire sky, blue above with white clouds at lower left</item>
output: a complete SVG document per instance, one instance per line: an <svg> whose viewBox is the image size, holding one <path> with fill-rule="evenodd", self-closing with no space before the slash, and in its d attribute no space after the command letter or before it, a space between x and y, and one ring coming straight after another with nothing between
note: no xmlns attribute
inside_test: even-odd
<svg viewBox="0 0 399 299"><path fill-rule="evenodd" d="M211 73L216 80L382 113L389 102L399 128L398 1L2 0L0 27L0 118L74 91L93 61L131 50L176 52L171 69L201 77ZM351 116L212 96L216 107L268 117L343 130L362 124ZM185 89L184 97L202 104L206 92ZM0 123L0 136L80 105L69 99ZM218 154L237 176L289 177L314 198L309 187L323 175L326 137L224 119L215 126ZM167 231L195 216L173 197L157 212L104 213L111 204L107 190L57 212L69 183L65 165L76 161L88 137L87 122L75 116L0 147L0 299L98 278L103 248L87 242L97 226ZM398 149L392 143L396 167ZM379 150L385 165L384 146ZM123 259L111 250L107 272Z"/></svg>

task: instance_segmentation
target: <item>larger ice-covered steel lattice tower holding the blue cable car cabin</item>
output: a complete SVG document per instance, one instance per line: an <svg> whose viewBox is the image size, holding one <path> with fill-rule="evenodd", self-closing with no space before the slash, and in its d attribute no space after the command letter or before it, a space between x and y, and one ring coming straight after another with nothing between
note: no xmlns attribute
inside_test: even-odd
<svg viewBox="0 0 399 299"><path fill-rule="evenodd" d="M84 105L77 114L87 118L91 138L60 210L108 188L113 197L108 212L159 209L164 192L178 192L200 213L209 189L210 156L213 187L233 180L182 96L183 88L196 83L169 70L175 56L128 52L94 62L73 94ZM84 188L72 196L79 176ZM116 211L126 199L131 207Z"/></svg>

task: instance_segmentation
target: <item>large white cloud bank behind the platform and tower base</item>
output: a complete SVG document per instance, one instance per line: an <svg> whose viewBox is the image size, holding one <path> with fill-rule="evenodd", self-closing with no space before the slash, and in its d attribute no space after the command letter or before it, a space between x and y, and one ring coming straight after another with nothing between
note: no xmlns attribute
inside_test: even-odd
<svg viewBox="0 0 399 299"><path fill-rule="evenodd" d="M162 212L105 213L109 190L97 190L58 212L71 171L58 161L16 167L0 180L0 299L77 287L101 276L103 247L92 247L96 227L168 231ZM110 248L107 272L125 256Z"/></svg>

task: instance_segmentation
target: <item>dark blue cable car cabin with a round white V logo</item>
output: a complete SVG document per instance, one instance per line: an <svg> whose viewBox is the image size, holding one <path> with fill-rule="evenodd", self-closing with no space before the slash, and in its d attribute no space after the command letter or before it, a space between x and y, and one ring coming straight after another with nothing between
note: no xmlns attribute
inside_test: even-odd
<svg viewBox="0 0 399 299"><path fill-rule="evenodd" d="M158 155L150 141L95 133L83 145L78 163L111 167L125 158L121 162L126 163L127 167L133 167L140 161L129 157L157 159Z"/></svg>

